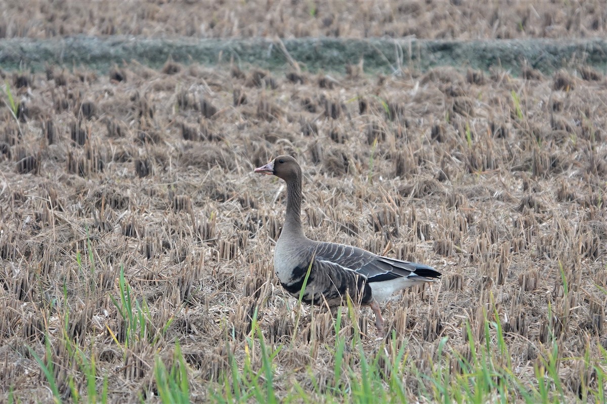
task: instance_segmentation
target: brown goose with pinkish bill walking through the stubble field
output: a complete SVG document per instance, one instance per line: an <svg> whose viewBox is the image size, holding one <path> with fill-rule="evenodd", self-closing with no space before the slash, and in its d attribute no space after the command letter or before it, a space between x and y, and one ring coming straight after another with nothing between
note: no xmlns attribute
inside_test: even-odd
<svg viewBox="0 0 607 404"><path fill-rule="evenodd" d="M362 248L308 239L301 222L302 170L291 156L278 156L255 173L275 175L287 183L287 213L274 248L274 271L291 296L311 305L342 305L345 296L370 306L378 334L384 318L379 302L393 293L436 282L441 273L427 265L379 256ZM310 274L305 282L305 277ZM302 287L305 282L305 290Z"/></svg>

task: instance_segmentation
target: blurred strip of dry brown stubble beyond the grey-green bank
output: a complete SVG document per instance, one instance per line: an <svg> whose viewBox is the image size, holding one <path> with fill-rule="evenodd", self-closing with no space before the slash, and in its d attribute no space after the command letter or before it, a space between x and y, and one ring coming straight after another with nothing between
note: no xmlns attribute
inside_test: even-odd
<svg viewBox="0 0 607 404"><path fill-rule="evenodd" d="M180 35L200 38L605 36L602 0L4 0L0 38Z"/></svg>

